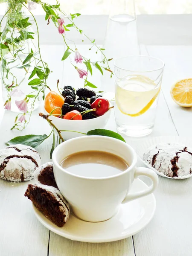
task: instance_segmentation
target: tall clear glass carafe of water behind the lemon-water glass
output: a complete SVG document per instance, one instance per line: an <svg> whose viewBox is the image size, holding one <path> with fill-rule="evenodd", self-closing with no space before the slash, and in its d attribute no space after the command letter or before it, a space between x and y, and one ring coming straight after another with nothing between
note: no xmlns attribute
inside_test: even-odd
<svg viewBox="0 0 192 256"><path fill-rule="evenodd" d="M103 48L106 56L113 59L139 54L134 0L111 0ZM101 85L102 90L105 91L104 95L112 99L115 91L114 77L110 78L107 75L102 77Z"/></svg>

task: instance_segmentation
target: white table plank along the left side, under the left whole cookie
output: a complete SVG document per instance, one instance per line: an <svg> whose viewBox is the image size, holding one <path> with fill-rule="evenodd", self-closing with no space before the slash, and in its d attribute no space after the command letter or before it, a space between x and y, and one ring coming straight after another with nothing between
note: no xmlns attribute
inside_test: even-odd
<svg viewBox="0 0 192 256"><path fill-rule="evenodd" d="M62 49L63 47L60 46ZM45 61L55 70L55 76L50 76L50 86L54 84L59 74L62 74L62 63L54 67L60 60L59 47L41 47ZM49 52L49 54L47 54ZM62 79L62 76L61 76ZM56 84L56 83L55 83ZM30 124L25 130L10 131L14 124L15 113L6 111L0 125L0 148L5 147L5 142L15 136L26 134L49 134L50 127L47 122L38 116L43 111L43 106L32 113ZM49 161L49 152L52 146L50 137L37 150L41 155L42 163ZM32 181L11 183L0 179L0 255L1 256L46 256L49 240L47 230L35 218L31 202L24 197L27 185Z"/></svg>

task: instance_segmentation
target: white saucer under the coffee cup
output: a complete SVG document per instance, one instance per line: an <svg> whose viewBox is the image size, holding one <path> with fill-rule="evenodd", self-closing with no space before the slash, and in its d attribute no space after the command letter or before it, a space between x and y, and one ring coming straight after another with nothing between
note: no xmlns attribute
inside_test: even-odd
<svg viewBox="0 0 192 256"><path fill-rule="evenodd" d="M137 179L132 184L131 192L142 191L147 185ZM86 222L73 214L64 227L57 227L33 206L35 216L52 232L71 240L103 243L117 241L141 231L154 215L156 201L153 194L121 204L119 212L108 221Z"/></svg>

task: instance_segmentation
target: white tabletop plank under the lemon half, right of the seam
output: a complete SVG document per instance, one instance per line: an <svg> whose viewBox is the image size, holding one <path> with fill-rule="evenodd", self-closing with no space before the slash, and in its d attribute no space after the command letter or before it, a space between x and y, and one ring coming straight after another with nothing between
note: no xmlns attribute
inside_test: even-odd
<svg viewBox="0 0 192 256"><path fill-rule="evenodd" d="M172 85L180 80L192 78L192 46L148 46L148 52L165 62L163 93L179 135L191 136L192 108L178 106L170 96Z"/></svg>

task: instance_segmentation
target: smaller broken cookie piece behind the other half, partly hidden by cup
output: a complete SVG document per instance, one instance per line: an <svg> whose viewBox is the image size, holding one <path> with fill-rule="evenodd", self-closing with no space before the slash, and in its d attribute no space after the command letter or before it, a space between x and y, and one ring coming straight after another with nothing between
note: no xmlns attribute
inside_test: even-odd
<svg viewBox="0 0 192 256"><path fill-rule="evenodd" d="M35 179L41 184L58 188L53 174L52 163L44 163L34 172Z"/></svg>

